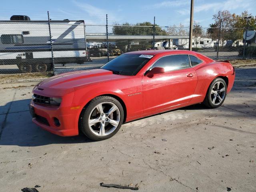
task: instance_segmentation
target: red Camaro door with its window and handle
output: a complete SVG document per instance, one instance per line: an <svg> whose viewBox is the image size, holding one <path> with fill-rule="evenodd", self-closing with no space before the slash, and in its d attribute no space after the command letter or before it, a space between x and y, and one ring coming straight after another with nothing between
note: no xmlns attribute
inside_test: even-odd
<svg viewBox="0 0 256 192"><path fill-rule="evenodd" d="M150 68L162 67L163 74L142 77L144 114L177 106L192 99L197 84L196 71L188 55L159 58Z"/></svg>

